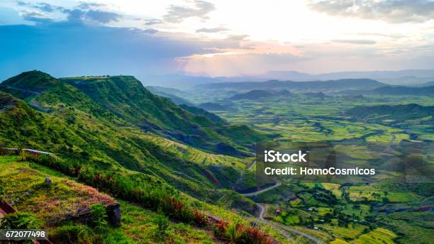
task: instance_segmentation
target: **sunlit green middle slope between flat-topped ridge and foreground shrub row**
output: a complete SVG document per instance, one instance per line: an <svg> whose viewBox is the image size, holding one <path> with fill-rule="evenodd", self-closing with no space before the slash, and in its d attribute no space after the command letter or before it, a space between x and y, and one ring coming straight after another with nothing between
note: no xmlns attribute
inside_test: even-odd
<svg viewBox="0 0 434 244"><path fill-rule="evenodd" d="M238 158L204 153L134 126L116 126L74 107L40 113L5 93L0 93L0 106L0 145L145 172L203 199L218 197L218 192L208 196L208 188L230 188L245 167Z"/></svg>

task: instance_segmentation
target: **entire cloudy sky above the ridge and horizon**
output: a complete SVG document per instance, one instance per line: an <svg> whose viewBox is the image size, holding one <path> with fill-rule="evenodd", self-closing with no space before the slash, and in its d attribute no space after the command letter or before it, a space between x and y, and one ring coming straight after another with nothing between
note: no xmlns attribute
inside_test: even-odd
<svg viewBox="0 0 434 244"><path fill-rule="evenodd" d="M0 79L432 69L434 1L0 1Z"/></svg>

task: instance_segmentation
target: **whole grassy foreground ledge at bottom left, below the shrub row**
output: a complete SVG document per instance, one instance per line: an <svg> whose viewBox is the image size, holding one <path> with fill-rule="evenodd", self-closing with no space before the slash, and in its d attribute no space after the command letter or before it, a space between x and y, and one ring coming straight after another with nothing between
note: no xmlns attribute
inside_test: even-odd
<svg viewBox="0 0 434 244"><path fill-rule="evenodd" d="M209 229L174 221L166 221L167 231L160 235L159 223L167 218L164 214L119 199L121 226L94 226L90 217L86 221L72 217L94 204L113 203L110 196L48 167L21 162L17 156L0 156L0 166L5 200L20 213L31 214L40 228L49 231L53 243L156 243L160 238L171 243L215 242ZM45 184L46 177L52 180L51 186Z"/></svg>

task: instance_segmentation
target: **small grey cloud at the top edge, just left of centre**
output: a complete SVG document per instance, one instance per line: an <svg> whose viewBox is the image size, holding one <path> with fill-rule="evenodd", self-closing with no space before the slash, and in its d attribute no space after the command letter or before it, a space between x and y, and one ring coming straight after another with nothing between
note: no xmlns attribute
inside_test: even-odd
<svg viewBox="0 0 434 244"><path fill-rule="evenodd" d="M196 17L201 20L208 19L208 13L216 10L214 4L208 1L194 0L194 7L170 5L167 8L167 13L163 17L169 23L181 23L184 18Z"/></svg>

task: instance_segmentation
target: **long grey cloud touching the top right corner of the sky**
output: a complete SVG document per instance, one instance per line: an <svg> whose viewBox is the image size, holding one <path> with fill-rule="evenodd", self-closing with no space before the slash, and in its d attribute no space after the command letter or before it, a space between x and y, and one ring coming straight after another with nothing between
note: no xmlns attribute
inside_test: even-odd
<svg viewBox="0 0 434 244"><path fill-rule="evenodd" d="M434 1L431 0L321 0L311 1L308 6L330 16L378 19L388 23L421 23L434 18Z"/></svg>

